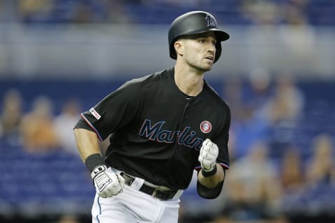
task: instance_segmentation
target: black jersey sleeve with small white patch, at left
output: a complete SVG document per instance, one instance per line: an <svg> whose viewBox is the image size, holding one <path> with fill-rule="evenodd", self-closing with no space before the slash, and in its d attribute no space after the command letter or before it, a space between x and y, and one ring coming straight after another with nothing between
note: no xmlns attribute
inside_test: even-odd
<svg viewBox="0 0 335 223"><path fill-rule="evenodd" d="M82 113L82 120L75 128L91 129L103 141L112 132L124 127L134 118L140 106L141 95L139 82L126 82L97 105L91 107L89 111Z"/></svg>

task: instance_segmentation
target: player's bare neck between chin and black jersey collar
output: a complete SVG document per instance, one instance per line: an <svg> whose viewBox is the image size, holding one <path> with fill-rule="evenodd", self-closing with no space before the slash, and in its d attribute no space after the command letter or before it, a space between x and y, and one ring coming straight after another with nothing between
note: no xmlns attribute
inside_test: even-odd
<svg viewBox="0 0 335 223"><path fill-rule="evenodd" d="M196 96L202 91L204 73L191 72L188 69L174 67L174 82L178 89L189 96Z"/></svg>

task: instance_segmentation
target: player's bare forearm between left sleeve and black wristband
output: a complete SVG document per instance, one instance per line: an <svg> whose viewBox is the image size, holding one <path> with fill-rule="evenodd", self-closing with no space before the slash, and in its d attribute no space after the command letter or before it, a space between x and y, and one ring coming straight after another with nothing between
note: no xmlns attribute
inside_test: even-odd
<svg viewBox="0 0 335 223"><path fill-rule="evenodd" d="M85 162L89 155L101 153L98 144L98 137L96 137L95 132L91 132L82 128L76 128L74 133L75 140L77 141L77 148L83 162Z"/></svg>

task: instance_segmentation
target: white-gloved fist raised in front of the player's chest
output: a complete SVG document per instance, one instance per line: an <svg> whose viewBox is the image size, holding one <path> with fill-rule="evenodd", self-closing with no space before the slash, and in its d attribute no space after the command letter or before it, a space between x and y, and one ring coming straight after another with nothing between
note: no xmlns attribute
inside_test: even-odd
<svg viewBox="0 0 335 223"><path fill-rule="evenodd" d="M216 167L216 158L218 157L218 146L211 141L206 139L202 143L200 148L200 155L198 160L201 164L202 170L209 172Z"/></svg>

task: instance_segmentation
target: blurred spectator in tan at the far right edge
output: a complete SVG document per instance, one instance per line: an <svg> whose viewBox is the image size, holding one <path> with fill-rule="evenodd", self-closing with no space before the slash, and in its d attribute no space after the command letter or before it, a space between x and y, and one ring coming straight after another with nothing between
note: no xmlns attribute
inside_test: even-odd
<svg viewBox="0 0 335 223"><path fill-rule="evenodd" d="M306 165L306 177L311 185L334 182L334 148L329 134L319 134L313 139L313 155Z"/></svg>

